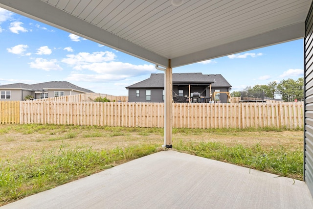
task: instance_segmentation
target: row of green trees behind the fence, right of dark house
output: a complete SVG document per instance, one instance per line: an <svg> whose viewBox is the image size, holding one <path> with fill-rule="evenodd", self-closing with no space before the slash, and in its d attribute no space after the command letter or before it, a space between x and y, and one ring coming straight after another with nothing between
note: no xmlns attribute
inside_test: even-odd
<svg viewBox="0 0 313 209"><path fill-rule="evenodd" d="M298 78L293 80L291 78L282 80L277 83L276 81L269 82L267 85L248 86L244 92L249 91L263 91L266 97L281 98L283 101L291 102L297 99L303 101L304 99L304 79ZM233 97L240 97L240 91L230 93Z"/></svg>

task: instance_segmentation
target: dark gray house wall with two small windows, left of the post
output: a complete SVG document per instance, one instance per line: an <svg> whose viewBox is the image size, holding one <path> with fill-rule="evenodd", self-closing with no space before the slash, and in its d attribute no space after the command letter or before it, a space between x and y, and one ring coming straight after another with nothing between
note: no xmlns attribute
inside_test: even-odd
<svg viewBox="0 0 313 209"><path fill-rule="evenodd" d="M139 90L139 97L136 97L136 90ZM151 90L151 100L146 100L146 90ZM129 89L129 102L164 102L162 99L163 89Z"/></svg>

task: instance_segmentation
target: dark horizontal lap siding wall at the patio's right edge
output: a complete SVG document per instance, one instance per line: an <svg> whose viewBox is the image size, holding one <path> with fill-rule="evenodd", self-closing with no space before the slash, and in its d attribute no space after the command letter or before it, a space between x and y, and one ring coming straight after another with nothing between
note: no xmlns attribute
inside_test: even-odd
<svg viewBox="0 0 313 209"><path fill-rule="evenodd" d="M304 132L304 180L313 194L313 7L306 20L305 50L305 132Z"/></svg>

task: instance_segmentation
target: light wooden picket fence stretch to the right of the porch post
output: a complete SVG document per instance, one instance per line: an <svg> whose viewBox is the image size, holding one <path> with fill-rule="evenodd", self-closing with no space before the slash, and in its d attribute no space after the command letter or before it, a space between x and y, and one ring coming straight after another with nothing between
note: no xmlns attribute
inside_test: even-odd
<svg viewBox="0 0 313 209"><path fill-rule="evenodd" d="M303 103L174 104L178 128L302 128Z"/></svg>

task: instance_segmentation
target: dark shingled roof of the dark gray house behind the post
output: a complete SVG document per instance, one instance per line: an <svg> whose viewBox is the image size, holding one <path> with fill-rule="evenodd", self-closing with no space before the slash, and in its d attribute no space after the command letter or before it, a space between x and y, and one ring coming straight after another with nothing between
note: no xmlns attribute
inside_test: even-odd
<svg viewBox="0 0 313 209"><path fill-rule="evenodd" d="M212 84L212 87L231 87L221 74L202 74L201 72L173 73L173 85L175 84ZM152 73L150 78L126 87L126 89L134 88L164 88L164 74Z"/></svg>

